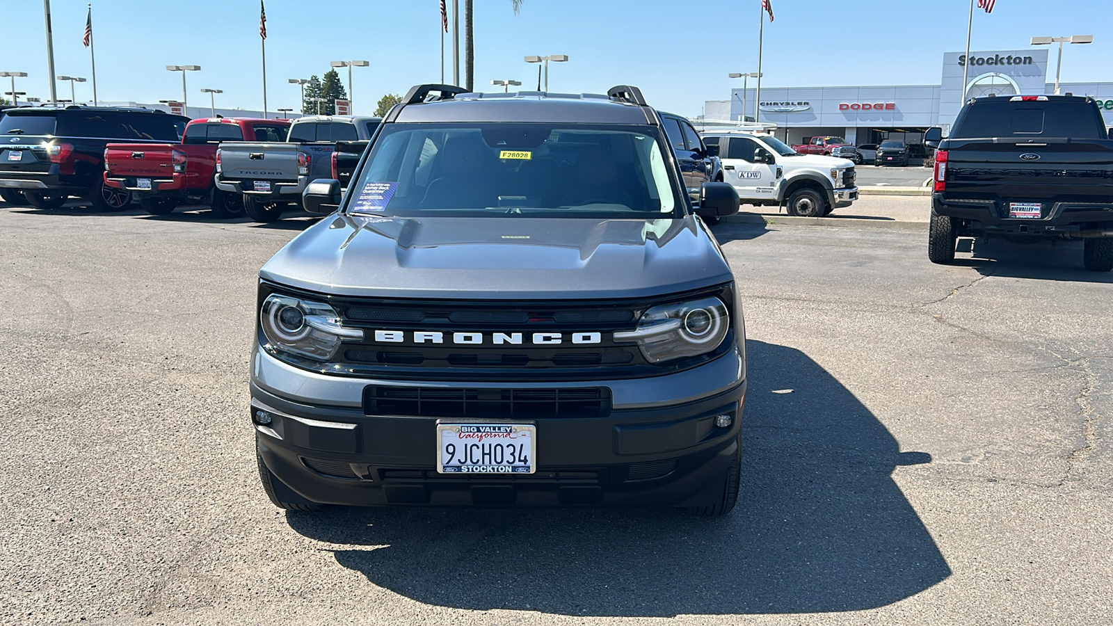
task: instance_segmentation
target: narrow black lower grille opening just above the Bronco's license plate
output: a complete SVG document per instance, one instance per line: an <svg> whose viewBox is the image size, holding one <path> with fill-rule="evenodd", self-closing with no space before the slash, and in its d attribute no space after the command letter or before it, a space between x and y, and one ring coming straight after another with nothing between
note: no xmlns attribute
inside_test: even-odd
<svg viewBox="0 0 1113 626"><path fill-rule="evenodd" d="M364 413L423 418L601 418L611 412L611 390L461 389L368 385Z"/></svg>

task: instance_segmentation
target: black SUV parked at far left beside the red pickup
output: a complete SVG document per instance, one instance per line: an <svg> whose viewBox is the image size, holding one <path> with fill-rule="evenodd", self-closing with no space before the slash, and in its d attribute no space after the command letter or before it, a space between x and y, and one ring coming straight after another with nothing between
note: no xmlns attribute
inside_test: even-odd
<svg viewBox="0 0 1113 626"><path fill-rule="evenodd" d="M188 117L159 110L19 107L0 118L0 192L12 204L58 208L69 196L100 211L120 211L131 194L105 186L111 143L178 141ZM26 198L26 202L23 202Z"/></svg>

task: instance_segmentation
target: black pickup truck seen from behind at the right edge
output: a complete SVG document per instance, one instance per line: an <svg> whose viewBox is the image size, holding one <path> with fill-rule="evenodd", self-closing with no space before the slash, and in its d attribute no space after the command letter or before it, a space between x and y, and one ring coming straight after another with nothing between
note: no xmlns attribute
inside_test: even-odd
<svg viewBox="0 0 1113 626"><path fill-rule="evenodd" d="M935 154L927 255L952 263L958 237L1085 242L1086 270L1113 270L1113 141L1093 98L969 100Z"/></svg>

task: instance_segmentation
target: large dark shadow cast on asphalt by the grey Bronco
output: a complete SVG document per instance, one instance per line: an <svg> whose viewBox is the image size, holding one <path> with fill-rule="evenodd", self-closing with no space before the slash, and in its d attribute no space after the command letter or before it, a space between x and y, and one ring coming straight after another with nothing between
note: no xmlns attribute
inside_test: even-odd
<svg viewBox="0 0 1113 626"><path fill-rule="evenodd" d="M802 352L748 342L743 487L726 518L672 509L287 513L336 561L417 601L672 617L846 612L951 575L890 478L930 462ZM792 390L790 393L785 390Z"/></svg>

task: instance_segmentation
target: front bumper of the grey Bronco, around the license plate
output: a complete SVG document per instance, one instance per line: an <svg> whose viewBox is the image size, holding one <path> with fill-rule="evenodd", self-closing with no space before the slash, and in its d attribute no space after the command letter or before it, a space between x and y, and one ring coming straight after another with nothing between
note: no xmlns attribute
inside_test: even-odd
<svg viewBox="0 0 1113 626"><path fill-rule="evenodd" d="M273 373L275 365L286 365L257 352L252 376L252 413L263 410L272 419L267 426L255 426L258 451L267 468L297 497L313 502L706 506L721 498L723 477L737 452L746 392L740 359L731 353L687 372L592 381L592 385L611 388L610 414L525 420L535 423L538 432L536 471L528 476L440 475L435 458L436 418L368 415L362 405L362 389L372 383L484 387L473 381L390 383L298 370L304 387L289 388L296 390L294 393L280 393L268 388L267 383L275 378L266 374ZM273 363L264 365L267 360ZM733 374L728 373L731 369ZM258 375L260 371L263 376ZM705 384L688 384L695 379L684 374L695 374ZM306 402L305 389L318 387L318 378L351 385L356 395L342 392L328 403ZM577 385L562 381L549 387ZM487 383L486 387L546 385ZM644 393L639 394L639 389ZM292 400L290 395L301 401ZM662 401L664 395L671 398ZM715 417L722 414L732 417L727 428L715 426Z"/></svg>

